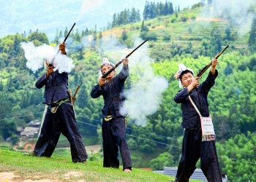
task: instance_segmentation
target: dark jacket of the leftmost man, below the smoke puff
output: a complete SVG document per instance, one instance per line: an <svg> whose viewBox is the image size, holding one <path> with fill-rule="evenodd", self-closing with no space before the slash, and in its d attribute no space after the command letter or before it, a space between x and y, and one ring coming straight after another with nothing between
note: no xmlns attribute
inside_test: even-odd
<svg viewBox="0 0 256 182"><path fill-rule="evenodd" d="M42 88L45 86L45 95L42 103L50 104L57 100L62 100L69 98L68 92L68 74L59 74L56 70L53 74L50 74L48 79L46 74L42 75L36 82L37 88Z"/></svg>

